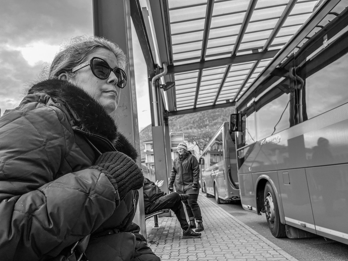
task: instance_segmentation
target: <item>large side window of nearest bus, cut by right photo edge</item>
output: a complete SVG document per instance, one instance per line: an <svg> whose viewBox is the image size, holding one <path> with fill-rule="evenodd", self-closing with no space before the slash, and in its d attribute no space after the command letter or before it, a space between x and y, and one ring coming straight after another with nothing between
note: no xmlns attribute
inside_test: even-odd
<svg viewBox="0 0 348 261"><path fill-rule="evenodd" d="M308 119L348 101L347 68L348 54L345 54L306 79Z"/></svg>

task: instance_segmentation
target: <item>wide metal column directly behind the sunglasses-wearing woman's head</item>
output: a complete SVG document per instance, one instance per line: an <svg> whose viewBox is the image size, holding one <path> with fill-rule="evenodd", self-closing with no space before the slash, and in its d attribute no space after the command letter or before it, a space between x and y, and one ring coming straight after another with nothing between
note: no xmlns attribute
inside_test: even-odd
<svg viewBox="0 0 348 261"><path fill-rule="evenodd" d="M93 0L93 23L95 35L115 42L128 56L129 63L126 68L128 83L121 91L117 108L118 129L140 151L129 0ZM141 166L140 157L138 165ZM134 222L140 226L141 234L146 236L142 189L139 190L139 194Z"/></svg>

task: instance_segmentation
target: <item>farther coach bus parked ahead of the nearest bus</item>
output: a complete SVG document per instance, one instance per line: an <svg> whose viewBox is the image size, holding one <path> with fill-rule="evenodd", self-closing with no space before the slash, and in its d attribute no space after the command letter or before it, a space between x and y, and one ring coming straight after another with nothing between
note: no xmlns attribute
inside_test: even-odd
<svg viewBox="0 0 348 261"><path fill-rule="evenodd" d="M207 197L216 203L240 200L234 132L225 121L201 153L200 180Z"/></svg>

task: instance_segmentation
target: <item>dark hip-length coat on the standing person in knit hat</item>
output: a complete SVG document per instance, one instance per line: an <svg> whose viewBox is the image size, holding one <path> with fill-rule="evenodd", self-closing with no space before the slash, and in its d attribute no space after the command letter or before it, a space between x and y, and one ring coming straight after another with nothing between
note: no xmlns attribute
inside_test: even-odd
<svg viewBox="0 0 348 261"><path fill-rule="evenodd" d="M175 185L175 190L181 194L199 193L199 165L190 151L180 159L177 157L173 162L173 168L169 180L169 187ZM175 181L175 182L174 182ZM198 189L192 189L192 183L197 183Z"/></svg>

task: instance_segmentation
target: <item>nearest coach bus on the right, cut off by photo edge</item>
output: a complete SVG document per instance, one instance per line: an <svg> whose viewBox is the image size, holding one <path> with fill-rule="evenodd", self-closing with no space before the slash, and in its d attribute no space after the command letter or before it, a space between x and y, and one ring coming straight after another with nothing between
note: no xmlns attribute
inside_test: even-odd
<svg viewBox="0 0 348 261"><path fill-rule="evenodd" d="M231 115L242 206L265 213L275 237L348 244L347 5L340 1L291 55L274 58Z"/></svg>

